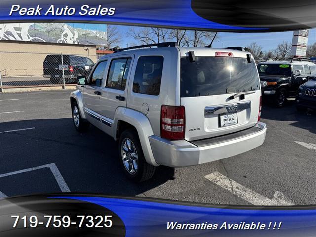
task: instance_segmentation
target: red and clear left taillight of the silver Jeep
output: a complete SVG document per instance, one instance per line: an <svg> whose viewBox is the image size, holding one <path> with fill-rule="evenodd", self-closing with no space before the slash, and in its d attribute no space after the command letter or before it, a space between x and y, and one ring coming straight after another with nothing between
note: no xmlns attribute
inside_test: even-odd
<svg viewBox="0 0 316 237"><path fill-rule="evenodd" d="M185 134L184 106L161 106L161 137L169 140L182 140Z"/></svg>

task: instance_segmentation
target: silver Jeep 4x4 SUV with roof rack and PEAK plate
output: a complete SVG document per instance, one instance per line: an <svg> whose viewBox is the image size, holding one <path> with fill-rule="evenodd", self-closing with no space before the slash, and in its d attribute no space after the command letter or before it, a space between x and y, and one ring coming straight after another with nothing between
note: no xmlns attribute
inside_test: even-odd
<svg viewBox="0 0 316 237"><path fill-rule="evenodd" d="M158 165L197 165L263 144L266 124L259 122L260 80L251 54L152 46L102 57L71 93L75 128L82 132L91 123L118 141L130 179L149 179Z"/></svg>

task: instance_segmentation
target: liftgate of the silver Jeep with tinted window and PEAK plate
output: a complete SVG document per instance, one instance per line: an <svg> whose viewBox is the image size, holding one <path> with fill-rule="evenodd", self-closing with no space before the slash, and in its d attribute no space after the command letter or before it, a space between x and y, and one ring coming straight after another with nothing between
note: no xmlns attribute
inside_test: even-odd
<svg viewBox="0 0 316 237"><path fill-rule="evenodd" d="M215 55L196 54L194 62L180 59L186 140L229 134L258 122L261 90L255 61L249 63L245 54L243 58L226 52ZM233 98L240 92L246 94Z"/></svg>

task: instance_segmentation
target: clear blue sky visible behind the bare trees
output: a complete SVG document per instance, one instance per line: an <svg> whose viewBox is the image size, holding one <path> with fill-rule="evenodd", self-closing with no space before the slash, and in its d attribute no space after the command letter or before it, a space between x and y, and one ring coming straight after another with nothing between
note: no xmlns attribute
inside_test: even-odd
<svg viewBox="0 0 316 237"><path fill-rule="evenodd" d="M130 26L117 26L119 32L121 33L122 43L121 47L127 47L131 44L138 44L137 41L126 36L126 32ZM135 27L136 28L136 27ZM233 47L241 46L246 47L252 42L257 42L263 51L268 51L270 49L275 49L279 43L283 40L292 43L293 31L287 32L273 32L273 33L228 33L219 32L217 34L218 39L213 42L213 47ZM311 29L309 34L308 44L313 44L316 42L316 29Z"/></svg>

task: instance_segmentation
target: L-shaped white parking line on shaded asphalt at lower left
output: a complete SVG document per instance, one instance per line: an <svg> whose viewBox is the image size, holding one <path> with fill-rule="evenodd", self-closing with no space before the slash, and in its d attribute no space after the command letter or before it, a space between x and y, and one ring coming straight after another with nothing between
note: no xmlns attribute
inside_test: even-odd
<svg viewBox="0 0 316 237"><path fill-rule="evenodd" d="M57 184L58 184L61 192L63 192L63 193L70 192L68 185L66 184L63 176L61 175L61 173L59 172L59 169L57 168L56 164L54 164L54 163L45 164L45 165L41 165L41 166L37 166L37 167L33 167L33 168L28 168L28 169L22 169L22 170L18 170L18 171L6 173L6 174L0 174L0 178L14 175L14 174L21 174L21 173L25 173L25 172L38 170L38 169L43 169L43 168L50 169L50 171L53 173L53 175L57 181Z"/></svg>

